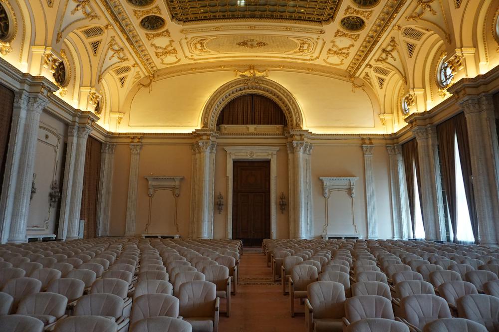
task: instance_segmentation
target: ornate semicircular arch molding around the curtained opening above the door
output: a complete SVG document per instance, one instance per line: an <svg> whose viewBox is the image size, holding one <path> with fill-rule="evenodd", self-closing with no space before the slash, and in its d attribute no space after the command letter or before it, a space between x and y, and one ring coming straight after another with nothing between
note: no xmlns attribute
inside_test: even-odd
<svg viewBox="0 0 499 332"><path fill-rule="evenodd" d="M247 94L265 96L279 105L286 116L289 130L303 128L302 112L296 99L283 86L266 78L254 84L248 84L247 78L239 78L222 85L211 95L203 109L201 128L215 131L222 109L231 100Z"/></svg>

